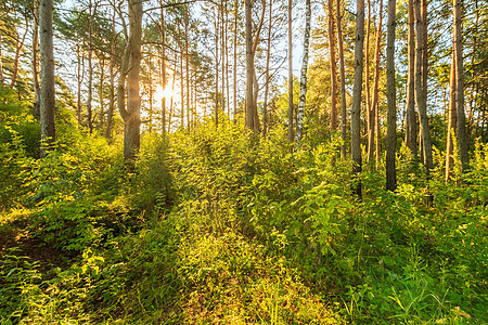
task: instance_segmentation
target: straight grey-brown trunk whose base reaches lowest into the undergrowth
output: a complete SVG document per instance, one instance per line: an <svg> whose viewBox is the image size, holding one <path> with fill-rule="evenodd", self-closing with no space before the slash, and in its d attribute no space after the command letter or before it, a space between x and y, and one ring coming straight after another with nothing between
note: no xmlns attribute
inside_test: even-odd
<svg viewBox="0 0 488 325"><path fill-rule="evenodd" d="M357 0L356 16L356 43L355 43L355 83L352 88L352 112L351 112L351 156L354 193L361 198L361 182L359 173L362 170L361 158L361 94L362 94L362 70L364 56L364 0Z"/></svg>

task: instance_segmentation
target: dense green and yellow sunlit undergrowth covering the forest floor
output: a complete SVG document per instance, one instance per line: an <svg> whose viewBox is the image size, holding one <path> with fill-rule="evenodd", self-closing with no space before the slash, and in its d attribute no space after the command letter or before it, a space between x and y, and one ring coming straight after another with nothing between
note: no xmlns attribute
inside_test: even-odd
<svg viewBox="0 0 488 325"><path fill-rule="evenodd" d="M335 138L290 154L208 123L146 134L129 171L95 135L38 160L13 130L1 324L488 322L485 144L449 184L402 148L398 191L369 168L358 200Z"/></svg>

